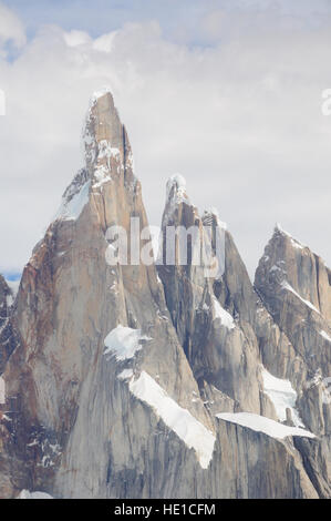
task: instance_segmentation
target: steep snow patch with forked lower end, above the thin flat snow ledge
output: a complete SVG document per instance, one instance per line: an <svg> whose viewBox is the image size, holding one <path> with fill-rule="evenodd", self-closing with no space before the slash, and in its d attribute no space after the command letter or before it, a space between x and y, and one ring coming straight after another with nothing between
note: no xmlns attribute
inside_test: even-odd
<svg viewBox="0 0 331 521"><path fill-rule="evenodd" d="M290 380L276 378L265 367L261 370L261 375L265 392L272 401L278 419L285 421L287 419L286 410L290 409L294 426L304 427L296 409L297 392L292 388Z"/></svg>

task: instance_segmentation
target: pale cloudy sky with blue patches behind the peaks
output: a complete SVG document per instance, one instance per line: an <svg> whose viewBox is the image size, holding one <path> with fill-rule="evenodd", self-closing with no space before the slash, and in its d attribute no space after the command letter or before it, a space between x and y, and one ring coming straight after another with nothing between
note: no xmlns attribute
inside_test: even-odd
<svg viewBox="0 0 331 521"><path fill-rule="evenodd" d="M19 273L111 86L151 224L166 178L216 206L254 274L276 222L331 265L330 0L0 0L0 272Z"/></svg>

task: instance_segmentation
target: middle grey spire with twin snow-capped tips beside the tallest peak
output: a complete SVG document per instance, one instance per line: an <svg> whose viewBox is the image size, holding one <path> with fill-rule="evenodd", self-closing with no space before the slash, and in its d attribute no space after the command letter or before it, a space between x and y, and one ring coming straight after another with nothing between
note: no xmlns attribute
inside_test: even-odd
<svg viewBox="0 0 331 521"><path fill-rule="evenodd" d="M186 246L185 234L177 236L175 263L167 263L168 226L182 227L188 233L193 226L199 231L198 238L187 237L187 263L185 259L180 264L180 252ZM236 410L260 412L258 345L252 331L244 333L239 320L246 293L254 297L254 290L225 227L215 211L205 212L200 218L189 202L183 180L177 176L170 178L163 216L163 263L159 262L158 273L173 324L200 389L207 385L209 394L211 389L225 394ZM219 255L216 253L217 239ZM200 256L200 263L195 263L201 243L205 255ZM214 263L218 263L215 274L211 269ZM236 275L234 266L239 266ZM209 272L211 276L206 276ZM256 297L252 305L256 305ZM249 394L247 388L250 388ZM219 399L217 391L216 395Z"/></svg>

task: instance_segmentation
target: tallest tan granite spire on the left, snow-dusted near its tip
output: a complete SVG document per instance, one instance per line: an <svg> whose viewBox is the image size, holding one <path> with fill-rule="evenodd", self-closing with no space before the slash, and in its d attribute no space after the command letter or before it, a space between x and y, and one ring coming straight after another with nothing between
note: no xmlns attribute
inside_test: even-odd
<svg viewBox="0 0 331 521"><path fill-rule="evenodd" d="M137 432L134 419L123 425L134 398L116 375L127 364L137 375L144 369L155 376L180 407L214 429L201 399L192 400L198 387L155 266L106 262L113 247L106 241L110 226L130 232L131 216L139 217L142 227L147 224L125 129L110 93L92 102L84 136L86 167L66 190L23 272L13 317L21 345L3 375L18 459L33 468L17 489L48 488L66 497L114 494L108 476L116 468L124 472L132 459L130 447L128 461L124 458L124 432L132 430L139 450L148 438L151 419L147 432ZM105 338L120 325L142 331L142 348L134 360L107 361ZM123 399L115 400L118 387Z"/></svg>

